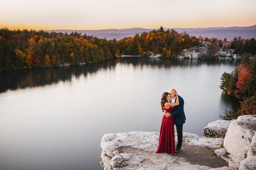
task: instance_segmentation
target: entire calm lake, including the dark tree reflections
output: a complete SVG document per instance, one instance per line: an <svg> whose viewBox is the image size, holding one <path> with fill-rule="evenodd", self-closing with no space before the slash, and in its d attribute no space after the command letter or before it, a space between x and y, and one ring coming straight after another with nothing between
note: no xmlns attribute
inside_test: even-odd
<svg viewBox="0 0 256 170"><path fill-rule="evenodd" d="M184 132L238 102L219 88L235 61L122 58L85 66L0 73L1 169L102 169L105 133L159 131L160 98L184 98Z"/></svg>

